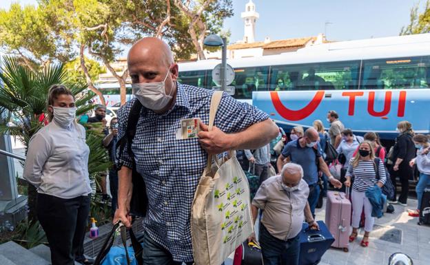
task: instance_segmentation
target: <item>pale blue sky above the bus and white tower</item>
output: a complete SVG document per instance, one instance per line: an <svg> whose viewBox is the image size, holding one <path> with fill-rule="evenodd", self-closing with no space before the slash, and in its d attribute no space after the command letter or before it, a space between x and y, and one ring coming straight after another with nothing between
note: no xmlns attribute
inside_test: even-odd
<svg viewBox="0 0 430 265"><path fill-rule="evenodd" d="M224 30L232 33L230 43L243 39L243 19L249 0L232 0L234 17L225 20ZM396 36L409 23L409 12L418 0L252 0L260 19L256 41L327 34L331 41ZM36 4L36 0L0 0L0 8L10 3ZM424 4L424 0L421 1ZM327 27L325 26L325 23Z"/></svg>

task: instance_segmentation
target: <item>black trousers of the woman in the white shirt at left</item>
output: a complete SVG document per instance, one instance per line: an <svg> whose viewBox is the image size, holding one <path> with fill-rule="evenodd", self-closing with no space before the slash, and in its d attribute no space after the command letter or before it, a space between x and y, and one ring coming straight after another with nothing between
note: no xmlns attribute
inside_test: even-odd
<svg viewBox="0 0 430 265"><path fill-rule="evenodd" d="M83 255L89 213L88 196L63 199L39 193L37 218L50 244L52 265L73 265L75 255Z"/></svg>

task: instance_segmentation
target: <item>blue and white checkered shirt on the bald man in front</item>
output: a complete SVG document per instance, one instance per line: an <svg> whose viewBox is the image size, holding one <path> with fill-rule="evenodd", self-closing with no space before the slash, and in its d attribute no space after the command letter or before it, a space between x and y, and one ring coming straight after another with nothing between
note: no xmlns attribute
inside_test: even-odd
<svg viewBox="0 0 430 265"><path fill-rule="evenodd" d="M132 151L136 169L145 180L149 209L143 221L148 235L166 248L176 262L192 262L190 230L194 193L207 163L207 153L197 138L176 140L176 130L185 118L209 123L209 105L214 90L177 83L176 103L165 114L143 107L136 125ZM119 138L136 98L119 109ZM256 107L223 94L214 125L225 133L243 131L269 118ZM132 167L125 148L121 165Z"/></svg>

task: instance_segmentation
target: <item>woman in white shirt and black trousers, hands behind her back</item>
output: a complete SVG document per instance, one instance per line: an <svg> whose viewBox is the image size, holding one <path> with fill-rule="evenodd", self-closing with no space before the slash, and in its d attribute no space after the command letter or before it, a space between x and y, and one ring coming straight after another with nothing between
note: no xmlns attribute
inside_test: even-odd
<svg viewBox="0 0 430 265"><path fill-rule="evenodd" d="M83 239L90 213L90 149L76 123L74 96L63 85L48 92L48 118L30 139L23 178L37 188L37 218L48 238L53 265L83 264Z"/></svg>

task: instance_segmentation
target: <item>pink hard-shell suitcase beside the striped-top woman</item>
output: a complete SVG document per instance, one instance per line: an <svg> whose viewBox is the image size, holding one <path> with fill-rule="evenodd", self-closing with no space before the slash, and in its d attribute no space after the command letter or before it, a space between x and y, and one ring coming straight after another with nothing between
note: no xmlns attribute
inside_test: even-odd
<svg viewBox="0 0 430 265"><path fill-rule="evenodd" d="M347 194L349 194L348 188ZM334 237L331 246L343 248L343 251L348 252L349 233L351 232L351 202L345 193L340 191L327 192L325 224Z"/></svg>

